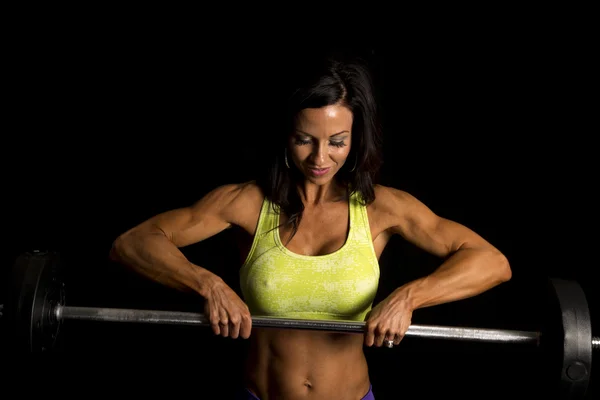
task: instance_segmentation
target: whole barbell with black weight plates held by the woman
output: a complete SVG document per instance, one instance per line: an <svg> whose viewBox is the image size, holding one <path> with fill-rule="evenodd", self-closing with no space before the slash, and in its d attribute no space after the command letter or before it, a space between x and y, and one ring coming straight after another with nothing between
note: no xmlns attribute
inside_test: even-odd
<svg viewBox="0 0 600 400"><path fill-rule="evenodd" d="M13 349L28 353L55 350L66 320L210 326L202 313L67 305L63 271L62 259L56 252L32 251L17 257L10 275L7 304L0 307L12 332ZM547 361L551 379L559 382L560 398L584 398L591 377L592 353L600 348L600 338L592 336L590 312L581 286L575 281L549 279L542 319L539 331L413 324L406 335L535 346ZM357 334L365 330L365 322L261 316L253 316L252 325Z"/></svg>

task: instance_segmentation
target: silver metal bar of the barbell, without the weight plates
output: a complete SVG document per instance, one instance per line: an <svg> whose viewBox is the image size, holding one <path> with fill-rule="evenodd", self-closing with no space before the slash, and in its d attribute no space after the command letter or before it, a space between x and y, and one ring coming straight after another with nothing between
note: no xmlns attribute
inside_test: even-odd
<svg viewBox="0 0 600 400"><path fill-rule="evenodd" d="M56 307L55 312L59 320L210 326L204 314L193 312L70 307L60 305ZM299 320L273 317L253 317L252 326L344 333L364 333L365 330L365 322ZM535 345L539 344L540 339L539 332L434 325L411 325L406 335L446 340L529 343Z"/></svg>

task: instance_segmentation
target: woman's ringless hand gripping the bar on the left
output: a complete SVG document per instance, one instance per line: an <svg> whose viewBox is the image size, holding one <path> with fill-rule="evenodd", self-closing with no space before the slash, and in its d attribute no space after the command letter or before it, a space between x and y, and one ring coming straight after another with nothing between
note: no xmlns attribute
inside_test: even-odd
<svg viewBox="0 0 600 400"><path fill-rule="evenodd" d="M208 285L204 298L204 315L215 335L248 339L252 317L244 301L222 279Z"/></svg>

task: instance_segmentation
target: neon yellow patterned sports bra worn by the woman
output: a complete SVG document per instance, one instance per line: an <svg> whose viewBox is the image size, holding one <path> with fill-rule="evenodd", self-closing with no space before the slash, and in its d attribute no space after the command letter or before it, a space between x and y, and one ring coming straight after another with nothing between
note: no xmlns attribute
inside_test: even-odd
<svg viewBox="0 0 600 400"><path fill-rule="evenodd" d="M279 213L265 198L256 235L240 269L240 288L253 316L363 321L379 283L366 207L350 197L350 229L337 251L306 256L279 236Z"/></svg>

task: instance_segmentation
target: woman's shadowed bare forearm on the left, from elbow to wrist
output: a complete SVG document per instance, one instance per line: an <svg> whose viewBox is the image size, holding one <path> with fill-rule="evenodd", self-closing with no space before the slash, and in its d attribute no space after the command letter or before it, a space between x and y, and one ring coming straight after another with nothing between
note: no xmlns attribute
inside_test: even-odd
<svg viewBox="0 0 600 400"><path fill-rule="evenodd" d="M162 285L204 296L220 278L193 264L162 232L129 232L111 248L110 258Z"/></svg>

